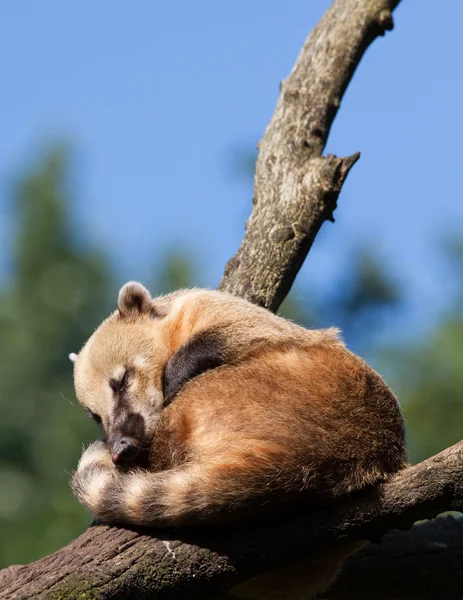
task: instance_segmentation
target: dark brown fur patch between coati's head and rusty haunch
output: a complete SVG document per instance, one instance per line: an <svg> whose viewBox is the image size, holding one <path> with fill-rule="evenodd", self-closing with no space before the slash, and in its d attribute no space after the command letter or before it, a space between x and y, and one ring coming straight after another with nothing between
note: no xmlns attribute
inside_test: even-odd
<svg viewBox="0 0 463 600"><path fill-rule="evenodd" d="M200 332L180 346L164 369L164 406L172 402L190 379L223 365L227 354L225 339L216 331Z"/></svg>

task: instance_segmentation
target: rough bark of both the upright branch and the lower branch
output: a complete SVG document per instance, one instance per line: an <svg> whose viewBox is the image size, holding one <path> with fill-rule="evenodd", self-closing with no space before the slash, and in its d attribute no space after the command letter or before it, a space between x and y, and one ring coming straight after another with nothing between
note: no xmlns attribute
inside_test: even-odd
<svg viewBox="0 0 463 600"><path fill-rule="evenodd" d="M322 156L332 121L364 51L392 28L398 1L335 0L307 39L260 143L253 212L221 289L271 310L289 291L358 159ZM170 533L92 526L51 556L1 571L0 600L210 598L339 544L379 540L391 528L463 508L462 451L463 442L336 507L283 511L270 524ZM459 521L436 521L389 533L381 547L349 560L333 598L385 598L387 590L415 598L423 589L461 596L461 529ZM429 587L411 585L410 572L429 578ZM443 576L452 577L455 596L445 595Z"/></svg>

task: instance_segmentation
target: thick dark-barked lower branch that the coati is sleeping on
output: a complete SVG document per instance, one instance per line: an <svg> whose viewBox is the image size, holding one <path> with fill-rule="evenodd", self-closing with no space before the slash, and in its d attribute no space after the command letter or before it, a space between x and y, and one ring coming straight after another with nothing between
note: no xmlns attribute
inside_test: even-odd
<svg viewBox="0 0 463 600"><path fill-rule="evenodd" d="M91 527L51 556L1 571L0 600L212 598L250 577L289 566L295 560L337 544L379 540L393 527L410 528L416 519L433 517L449 508L463 508L462 457L463 442L460 442L406 469L386 485L353 496L335 509L286 515L260 526L183 530L159 537L106 526ZM419 545L422 538L417 527L408 534L412 546ZM434 551L444 551L440 538L432 543ZM462 542L453 537L452 543L451 551L445 548L446 558L455 562L462 555ZM387 548L387 539L384 544ZM398 545L393 556L400 557L403 553L404 549ZM429 547L425 554L424 559L431 562ZM375 562L371 550L366 557L360 556L363 558L356 560L359 563L365 560L368 568L368 561ZM390 555L386 553L381 560L384 569L391 569ZM359 563L356 566L352 560L346 570L345 581L350 581L349 585L356 585L356 570L357 578L363 576ZM460 577L461 584L461 563L458 564L453 575ZM381 562L378 569L381 570ZM409 582L402 583L396 577L396 583L394 598L414 597L410 596ZM452 585L454 589L458 586L461 595L460 584L455 580ZM337 589L338 594L344 593L343 585L339 584ZM445 595L446 589L440 590L441 598L452 597Z"/></svg>

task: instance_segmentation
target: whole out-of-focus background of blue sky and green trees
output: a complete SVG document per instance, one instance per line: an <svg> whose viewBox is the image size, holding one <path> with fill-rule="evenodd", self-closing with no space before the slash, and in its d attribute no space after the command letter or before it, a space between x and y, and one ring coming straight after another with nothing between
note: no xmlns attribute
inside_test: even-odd
<svg viewBox="0 0 463 600"><path fill-rule="evenodd" d="M98 431L67 356L127 279L217 285L279 82L329 4L0 6L0 566L89 523L69 479ZM282 312L344 329L419 461L463 433L463 3L395 19L342 102L327 151L362 157Z"/></svg>

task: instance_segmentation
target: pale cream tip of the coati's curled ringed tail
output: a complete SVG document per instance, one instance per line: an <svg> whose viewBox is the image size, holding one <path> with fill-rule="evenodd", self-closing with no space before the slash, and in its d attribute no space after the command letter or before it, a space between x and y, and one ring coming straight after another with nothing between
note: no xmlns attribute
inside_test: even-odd
<svg viewBox="0 0 463 600"><path fill-rule="evenodd" d="M82 454L72 478L72 489L79 502L96 514L105 489L117 473L103 440L91 444Z"/></svg>

